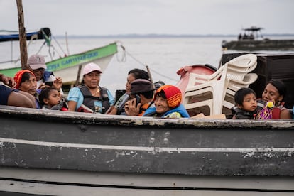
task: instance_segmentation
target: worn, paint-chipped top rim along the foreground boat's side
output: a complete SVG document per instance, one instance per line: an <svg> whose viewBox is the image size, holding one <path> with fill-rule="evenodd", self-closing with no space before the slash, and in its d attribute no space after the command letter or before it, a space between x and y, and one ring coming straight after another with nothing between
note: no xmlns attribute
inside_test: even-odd
<svg viewBox="0 0 294 196"><path fill-rule="evenodd" d="M75 124L99 124L114 126L171 126L194 129L294 129L294 121L289 120L248 120L248 119L163 119L144 116L122 116L89 114L75 111L54 111L23 107L0 106L1 118L20 118L33 121L61 121Z"/></svg>

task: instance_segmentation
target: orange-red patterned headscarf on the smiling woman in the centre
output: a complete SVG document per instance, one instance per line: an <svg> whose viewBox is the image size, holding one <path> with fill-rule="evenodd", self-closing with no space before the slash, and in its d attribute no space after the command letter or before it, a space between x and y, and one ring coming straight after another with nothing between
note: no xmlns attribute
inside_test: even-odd
<svg viewBox="0 0 294 196"><path fill-rule="evenodd" d="M156 97L156 94L161 91L165 93L165 97L168 101L168 107L178 107L180 105L180 102L182 102L182 93L180 92L180 89L178 89L178 87L175 87L173 85L163 85L156 90L154 97Z"/></svg>

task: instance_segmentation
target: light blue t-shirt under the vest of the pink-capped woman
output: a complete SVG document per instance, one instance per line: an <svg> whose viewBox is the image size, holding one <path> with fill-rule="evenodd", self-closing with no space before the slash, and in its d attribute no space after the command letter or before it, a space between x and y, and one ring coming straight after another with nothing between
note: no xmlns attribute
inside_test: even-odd
<svg viewBox="0 0 294 196"><path fill-rule="evenodd" d="M109 92L109 89L107 89L108 99L109 99L109 105L114 105L114 97ZM70 89L70 92L68 92L67 95L67 101L73 101L77 102L77 106L75 107L75 111L81 107L82 102L84 102L84 96L82 95L82 92L78 87L73 87ZM94 100L95 107L99 108L99 113L102 113L102 102L98 100Z"/></svg>

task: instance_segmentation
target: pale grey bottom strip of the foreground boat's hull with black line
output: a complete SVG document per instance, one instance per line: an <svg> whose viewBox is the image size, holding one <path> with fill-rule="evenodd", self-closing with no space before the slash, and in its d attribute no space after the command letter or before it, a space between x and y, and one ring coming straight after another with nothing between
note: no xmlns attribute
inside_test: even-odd
<svg viewBox="0 0 294 196"><path fill-rule="evenodd" d="M0 195L293 195L289 177L99 173L0 168Z"/></svg>

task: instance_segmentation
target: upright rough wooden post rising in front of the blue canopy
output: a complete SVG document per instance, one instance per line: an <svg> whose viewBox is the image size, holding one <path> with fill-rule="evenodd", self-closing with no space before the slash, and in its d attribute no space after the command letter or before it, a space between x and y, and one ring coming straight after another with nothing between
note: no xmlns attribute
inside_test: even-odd
<svg viewBox="0 0 294 196"><path fill-rule="evenodd" d="M28 51L26 48L26 28L24 27L23 18L23 3L22 0L16 0L17 11L18 11L18 29L19 29L19 46L21 50L21 69L29 69L28 62Z"/></svg>

